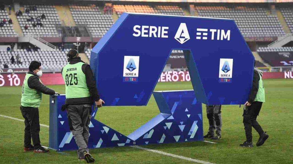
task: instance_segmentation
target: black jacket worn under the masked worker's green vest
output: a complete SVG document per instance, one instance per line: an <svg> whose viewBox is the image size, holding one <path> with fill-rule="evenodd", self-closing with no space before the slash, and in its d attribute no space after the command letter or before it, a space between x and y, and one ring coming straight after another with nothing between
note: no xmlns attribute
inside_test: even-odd
<svg viewBox="0 0 293 164"><path fill-rule="evenodd" d="M28 87L29 88L35 89L35 90L42 92L46 95L54 95L55 94L55 91L53 89L46 87L44 84L42 84L40 82L40 78L38 75L36 75L32 71L28 71L28 74L34 75L34 76L30 76L28 78Z"/></svg>

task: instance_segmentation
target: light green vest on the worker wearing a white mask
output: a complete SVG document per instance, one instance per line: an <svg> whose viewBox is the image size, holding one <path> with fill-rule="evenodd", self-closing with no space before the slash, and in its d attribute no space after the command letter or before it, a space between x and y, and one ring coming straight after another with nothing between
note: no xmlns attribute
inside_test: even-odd
<svg viewBox="0 0 293 164"><path fill-rule="evenodd" d="M40 104L42 101L42 93L28 87L28 78L30 76L34 76L34 75L26 74L23 81L22 94L21 94L21 106L38 108L40 107Z"/></svg>

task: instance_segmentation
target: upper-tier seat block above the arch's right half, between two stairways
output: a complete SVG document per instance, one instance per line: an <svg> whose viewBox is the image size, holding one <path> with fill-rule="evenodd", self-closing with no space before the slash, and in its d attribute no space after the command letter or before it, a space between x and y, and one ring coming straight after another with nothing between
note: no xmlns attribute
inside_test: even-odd
<svg viewBox="0 0 293 164"><path fill-rule="evenodd" d="M285 32L277 15L268 15L267 9L249 6L196 6L202 17L234 19L244 36L283 36Z"/></svg>

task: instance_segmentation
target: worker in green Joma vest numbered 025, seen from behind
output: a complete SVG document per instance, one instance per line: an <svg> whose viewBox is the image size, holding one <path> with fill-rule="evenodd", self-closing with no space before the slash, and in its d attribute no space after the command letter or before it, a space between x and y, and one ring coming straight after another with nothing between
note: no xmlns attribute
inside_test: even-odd
<svg viewBox="0 0 293 164"><path fill-rule="evenodd" d="M67 57L69 63L61 72L65 82L69 128L78 146L78 159L92 163L95 160L88 151L91 106L95 102L97 107L102 107L105 102L100 99L91 67L81 60L77 50L69 50Z"/></svg>

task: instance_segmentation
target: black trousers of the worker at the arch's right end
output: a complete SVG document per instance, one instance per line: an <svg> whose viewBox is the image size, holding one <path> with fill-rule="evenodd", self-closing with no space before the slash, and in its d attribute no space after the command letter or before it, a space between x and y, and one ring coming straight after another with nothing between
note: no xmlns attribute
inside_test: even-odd
<svg viewBox="0 0 293 164"><path fill-rule="evenodd" d="M251 106L248 106L247 109L243 111L243 124L247 142L252 142L251 127L253 127L259 135L263 134L263 129L256 121L262 104L263 102L254 101Z"/></svg>

